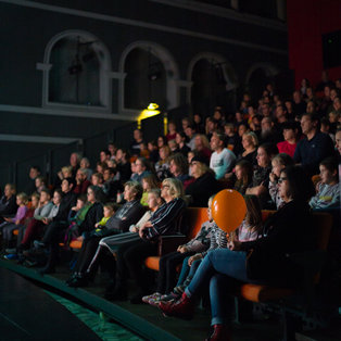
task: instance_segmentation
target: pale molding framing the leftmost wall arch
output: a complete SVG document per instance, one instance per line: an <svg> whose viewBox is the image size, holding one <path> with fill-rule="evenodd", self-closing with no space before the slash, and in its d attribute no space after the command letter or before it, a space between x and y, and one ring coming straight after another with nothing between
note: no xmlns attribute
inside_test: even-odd
<svg viewBox="0 0 341 341"><path fill-rule="evenodd" d="M93 41L92 49L96 51L99 63L100 63L100 101L101 106L87 106L80 104L70 104L70 103L56 103L49 101L49 77L50 70L52 64L50 63L51 51L54 45L67 37L81 37L85 41ZM105 45L91 33L79 30L79 29L68 29L64 30L50 39L48 42L45 53L43 53L43 63L37 63L37 68L42 71L42 108L58 109L58 110L67 110L67 111L86 111L86 112L101 112L101 113L111 113L112 112L112 79L116 77L116 73L111 71L111 55L105 47Z"/></svg>

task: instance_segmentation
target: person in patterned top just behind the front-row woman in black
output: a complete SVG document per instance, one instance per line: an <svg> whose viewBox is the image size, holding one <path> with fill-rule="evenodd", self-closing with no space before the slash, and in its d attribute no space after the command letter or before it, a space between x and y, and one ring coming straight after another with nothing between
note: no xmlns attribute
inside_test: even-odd
<svg viewBox="0 0 341 341"><path fill-rule="evenodd" d="M281 169L294 164L291 156L286 153L279 153L271 160L273 171L269 174L268 191L276 209L279 210L285 201L279 194L279 176Z"/></svg>

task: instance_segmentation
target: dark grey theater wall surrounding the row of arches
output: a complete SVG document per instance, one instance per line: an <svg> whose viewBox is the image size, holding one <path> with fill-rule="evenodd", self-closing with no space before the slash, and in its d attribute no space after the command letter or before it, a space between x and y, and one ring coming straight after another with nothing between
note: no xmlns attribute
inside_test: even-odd
<svg viewBox="0 0 341 341"><path fill-rule="evenodd" d="M84 30L101 40L111 54L112 72L119 71L123 52L136 41L150 41L167 50L179 70L179 80L189 80L189 65L203 52L225 58L241 87L254 64L271 64L278 71L288 67L286 26L276 21L263 25L258 17L261 25L256 25L252 21L237 21L235 16L223 17L148 0L40 0L27 3L29 5L0 2L2 135L83 139L103 131L116 131L118 144L129 144L135 125L124 118L88 118L86 112L79 117L59 115L59 111L48 115L41 111L42 71L37 70L37 63L43 63L48 42L70 29ZM36 8L40 4L56 8ZM67 13L70 10L72 12ZM97 17L90 17L90 14ZM113 78L112 112L109 113L113 117L122 114L118 108L121 91L118 80ZM179 108L187 109L187 89L179 87L178 92ZM4 105L11 105L12 110ZM27 106L30 110L25 112ZM153 125L149 124L147 129L153 131ZM99 140L94 140L93 149L100 146ZM37 149L45 152L56 146L8 141L0 143L1 160L22 160L34 155ZM96 151L92 154L94 157Z"/></svg>

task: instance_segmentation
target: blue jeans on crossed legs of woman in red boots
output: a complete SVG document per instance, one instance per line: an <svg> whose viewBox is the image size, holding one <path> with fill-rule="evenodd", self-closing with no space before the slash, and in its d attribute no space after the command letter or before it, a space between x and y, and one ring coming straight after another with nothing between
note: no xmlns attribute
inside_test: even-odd
<svg viewBox="0 0 341 341"><path fill-rule="evenodd" d="M212 325L224 324L227 314L225 295L229 285L237 280L250 281L247 276L247 253L217 249L209 252L201 262L195 275L186 288L188 296L199 294L205 283L210 283ZM224 276L225 275L225 276Z"/></svg>

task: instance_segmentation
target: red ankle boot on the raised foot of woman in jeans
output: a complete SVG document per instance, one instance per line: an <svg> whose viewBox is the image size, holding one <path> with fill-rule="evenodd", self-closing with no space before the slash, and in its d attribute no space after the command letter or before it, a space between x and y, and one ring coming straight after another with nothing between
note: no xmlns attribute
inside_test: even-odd
<svg viewBox="0 0 341 341"><path fill-rule="evenodd" d="M193 317L195 304L193 300L184 292L180 300L176 302L160 302L159 307L165 316L177 316L184 319Z"/></svg>

